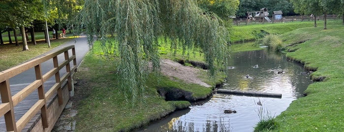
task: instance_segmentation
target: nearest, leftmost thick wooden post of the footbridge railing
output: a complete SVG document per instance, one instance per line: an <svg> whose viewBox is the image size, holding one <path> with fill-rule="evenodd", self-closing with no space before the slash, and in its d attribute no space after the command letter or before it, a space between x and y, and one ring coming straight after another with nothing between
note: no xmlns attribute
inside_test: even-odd
<svg viewBox="0 0 344 132"><path fill-rule="evenodd" d="M1 94L2 103L9 103L9 105L10 105L9 111L7 111L4 114L6 130L7 130L7 132L9 132L9 131L17 132L16 120L14 117L12 96L11 96L11 91L10 91L10 87L9 87L9 80L6 80L6 81L3 81L0 83L0 94ZM2 112L3 111L1 111L1 113Z"/></svg>

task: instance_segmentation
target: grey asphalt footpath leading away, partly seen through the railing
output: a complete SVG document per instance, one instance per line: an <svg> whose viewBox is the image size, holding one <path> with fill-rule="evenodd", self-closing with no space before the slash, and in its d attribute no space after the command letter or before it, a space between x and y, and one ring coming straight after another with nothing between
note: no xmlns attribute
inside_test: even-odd
<svg viewBox="0 0 344 132"><path fill-rule="evenodd" d="M63 38L62 38L63 39ZM35 58L39 58L42 57L44 55L53 53L58 51L59 49L62 49L66 46L70 46L70 45L75 45L75 55L76 55L76 62L77 62L77 66L80 65L80 63L82 62L84 56L87 54L87 52L89 51L89 45L87 44L87 37L86 35L81 35L79 37L76 37L46 53L43 53ZM69 56L71 55L71 50L69 52ZM63 53L60 54L58 56L58 60L59 60L59 64L61 62L64 61L64 55ZM72 64L72 63L71 63ZM53 59L50 59L44 63L41 64L41 68L42 68L42 74L45 74L46 72L48 72L49 70L51 70L53 68ZM60 76L62 76L65 73L65 68L60 70ZM35 80L35 72L34 72L34 68L31 68L27 71L24 71L12 78L9 79L10 85L14 85L14 84L26 84L26 83L31 83ZM55 77L51 77L49 79L49 81L55 81Z"/></svg>

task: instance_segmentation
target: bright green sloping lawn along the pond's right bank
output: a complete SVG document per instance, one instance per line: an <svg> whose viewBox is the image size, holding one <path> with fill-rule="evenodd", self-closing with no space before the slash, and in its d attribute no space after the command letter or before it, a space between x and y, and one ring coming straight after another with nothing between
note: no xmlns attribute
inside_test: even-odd
<svg viewBox="0 0 344 132"><path fill-rule="evenodd" d="M344 128L344 26L303 28L281 35L288 58L316 70L306 97L293 101L276 119L282 132L341 132ZM300 43L301 42L301 43Z"/></svg>

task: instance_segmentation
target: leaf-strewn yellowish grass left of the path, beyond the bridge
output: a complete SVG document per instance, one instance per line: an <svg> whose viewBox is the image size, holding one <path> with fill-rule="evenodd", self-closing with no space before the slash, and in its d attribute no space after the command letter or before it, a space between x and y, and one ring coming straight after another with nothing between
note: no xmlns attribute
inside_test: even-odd
<svg viewBox="0 0 344 132"><path fill-rule="evenodd" d="M15 44L1 44L0 45L0 71L8 69L13 66L17 66L23 62L26 62L40 54L43 54L71 39L52 39L50 42L50 48L48 43L44 43L44 40L37 41L36 45L31 42L28 43L29 50L23 51L23 45L19 46Z"/></svg>

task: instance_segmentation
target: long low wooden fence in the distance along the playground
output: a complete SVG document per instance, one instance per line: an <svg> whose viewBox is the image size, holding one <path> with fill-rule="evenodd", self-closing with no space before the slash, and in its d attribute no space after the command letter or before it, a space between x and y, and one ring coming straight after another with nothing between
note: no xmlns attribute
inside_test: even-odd
<svg viewBox="0 0 344 132"><path fill-rule="evenodd" d="M245 26L254 24L268 24L268 23L289 23L289 22L306 22L314 21L314 17L311 15L298 15L298 16L283 16L280 20L275 20L273 17L268 17L269 20L265 18L255 17L254 20L247 19L235 19L233 25L235 26ZM317 21L323 21L324 15L316 16ZM327 15L327 20L342 20L342 16L338 15Z"/></svg>

